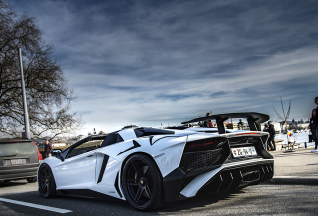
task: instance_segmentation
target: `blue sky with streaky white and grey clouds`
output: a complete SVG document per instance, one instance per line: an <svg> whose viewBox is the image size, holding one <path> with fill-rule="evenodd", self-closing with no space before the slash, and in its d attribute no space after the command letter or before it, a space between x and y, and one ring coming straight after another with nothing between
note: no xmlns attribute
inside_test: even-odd
<svg viewBox="0 0 318 216"><path fill-rule="evenodd" d="M307 120L318 96L317 0L10 0L37 18L77 95L83 134L206 112Z"/></svg>

